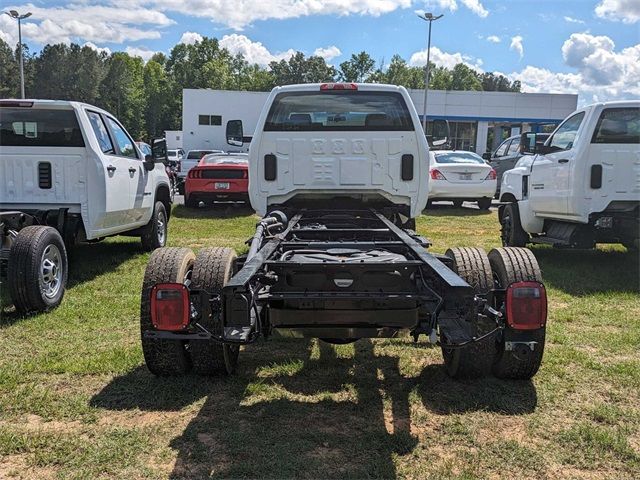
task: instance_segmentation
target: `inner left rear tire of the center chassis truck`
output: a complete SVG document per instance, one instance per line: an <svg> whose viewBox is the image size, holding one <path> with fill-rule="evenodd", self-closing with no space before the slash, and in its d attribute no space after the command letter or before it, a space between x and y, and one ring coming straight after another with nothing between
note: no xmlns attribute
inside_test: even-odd
<svg viewBox="0 0 640 480"><path fill-rule="evenodd" d="M192 287L219 295L231 278L236 253L230 248L203 248L196 256ZM219 333L222 319L216 313L199 322L210 332ZM230 375L238 364L239 345L214 340L192 340L189 343L194 372L200 375Z"/></svg>

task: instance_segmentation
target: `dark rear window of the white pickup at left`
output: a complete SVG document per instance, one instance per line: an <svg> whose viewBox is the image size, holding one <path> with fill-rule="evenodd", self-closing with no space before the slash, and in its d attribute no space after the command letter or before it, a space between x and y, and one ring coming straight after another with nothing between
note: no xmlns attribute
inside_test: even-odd
<svg viewBox="0 0 640 480"><path fill-rule="evenodd" d="M73 110L0 108L3 147L84 147Z"/></svg>

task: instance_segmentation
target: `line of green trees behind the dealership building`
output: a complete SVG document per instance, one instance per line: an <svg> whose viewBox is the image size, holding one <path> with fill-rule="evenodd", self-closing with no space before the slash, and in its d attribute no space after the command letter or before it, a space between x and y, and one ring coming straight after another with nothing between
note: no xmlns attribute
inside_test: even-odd
<svg viewBox="0 0 640 480"><path fill-rule="evenodd" d="M175 45L146 63L125 52L106 53L72 43L46 45L33 54L23 45L25 90L29 98L76 100L116 115L138 138L180 130L182 89L269 91L276 85L314 82L374 82L424 88L424 67L399 55L387 65L366 52L351 55L336 68L324 58L297 52L267 67L233 55L216 38ZM479 73L459 63L452 69L431 64L429 88L519 92L520 82ZM0 39L0 98L20 95L17 48Z"/></svg>

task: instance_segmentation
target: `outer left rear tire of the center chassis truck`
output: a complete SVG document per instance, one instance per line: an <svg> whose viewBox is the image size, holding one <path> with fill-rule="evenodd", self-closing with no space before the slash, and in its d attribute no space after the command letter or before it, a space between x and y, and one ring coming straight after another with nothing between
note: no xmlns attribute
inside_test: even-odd
<svg viewBox="0 0 640 480"><path fill-rule="evenodd" d="M140 298L142 353L147 368L154 375L182 375L191 368L187 341L145 337L153 331L151 323L151 288L156 283L184 283L189 286L195 255L188 248L159 248L151 254L144 272Z"/></svg>

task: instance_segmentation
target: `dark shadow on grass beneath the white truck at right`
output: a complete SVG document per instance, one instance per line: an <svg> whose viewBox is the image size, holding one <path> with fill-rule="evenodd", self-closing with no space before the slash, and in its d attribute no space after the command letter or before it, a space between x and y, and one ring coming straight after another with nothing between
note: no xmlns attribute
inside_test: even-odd
<svg viewBox="0 0 640 480"><path fill-rule="evenodd" d="M574 296L640 293L640 259L634 252L531 249L546 285Z"/></svg>

